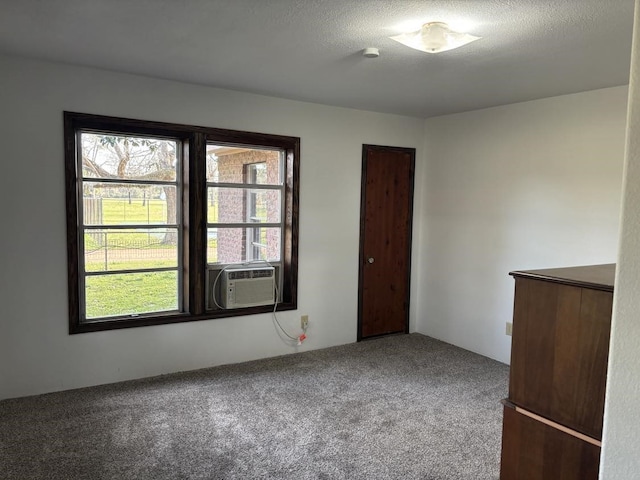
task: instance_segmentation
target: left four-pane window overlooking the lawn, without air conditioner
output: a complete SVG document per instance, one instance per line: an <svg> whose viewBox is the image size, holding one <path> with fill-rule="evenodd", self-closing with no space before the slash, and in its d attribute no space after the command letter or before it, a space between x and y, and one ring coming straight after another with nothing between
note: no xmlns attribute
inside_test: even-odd
<svg viewBox="0 0 640 480"><path fill-rule="evenodd" d="M178 142L82 130L77 141L84 317L178 311Z"/></svg>

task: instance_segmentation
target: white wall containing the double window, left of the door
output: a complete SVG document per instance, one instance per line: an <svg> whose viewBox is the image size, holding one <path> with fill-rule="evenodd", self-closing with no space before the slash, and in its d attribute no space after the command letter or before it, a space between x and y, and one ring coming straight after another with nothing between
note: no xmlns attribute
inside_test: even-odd
<svg viewBox="0 0 640 480"><path fill-rule="evenodd" d="M301 137L299 309L280 318L310 316L301 350L355 341L362 144L420 163L423 120L10 57L0 71L0 398L295 351L269 315L67 334L63 110Z"/></svg>

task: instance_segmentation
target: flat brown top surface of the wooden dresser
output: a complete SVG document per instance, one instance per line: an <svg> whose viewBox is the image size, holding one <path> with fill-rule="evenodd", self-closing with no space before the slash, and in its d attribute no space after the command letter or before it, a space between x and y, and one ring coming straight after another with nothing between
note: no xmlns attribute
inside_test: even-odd
<svg viewBox="0 0 640 480"><path fill-rule="evenodd" d="M516 278L545 280L610 292L613 291L615 274L615 263L582 267L546 268L543 270L516 270L509 273L509 275Z"/></svg>

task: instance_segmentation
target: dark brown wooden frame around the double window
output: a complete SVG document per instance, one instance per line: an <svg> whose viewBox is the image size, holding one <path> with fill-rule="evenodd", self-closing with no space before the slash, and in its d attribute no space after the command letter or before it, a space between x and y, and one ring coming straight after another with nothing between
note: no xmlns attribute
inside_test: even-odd
<svg viewBox="0 0 640 480"><path fill-rule="evenodd" d="M80 132L167 137L182 147L182 301L178 313L152 313L138 316L86 320L81 312L81 267L77 142ZM300 197L300 138L283 135L226 130L148 120L64 112L64 157L67 216L67 263L69 286L69 333L86 333L120 328L162 325L254 315L273 311L273 305L229 310L207 310L207 143L230 146L282 149L284 159L284 228L282 231L282 292L278 311L297 309L298 229Z"/></svg>

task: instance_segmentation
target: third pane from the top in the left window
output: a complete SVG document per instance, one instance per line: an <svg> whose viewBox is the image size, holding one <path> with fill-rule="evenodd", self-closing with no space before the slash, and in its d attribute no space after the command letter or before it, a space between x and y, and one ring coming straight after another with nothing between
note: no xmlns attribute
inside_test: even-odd
<svg viewBox="0 0 640 480"><path fill-rule="evenodd" d="M85 230L87 272L178 266L178 230Z"/></svg>

